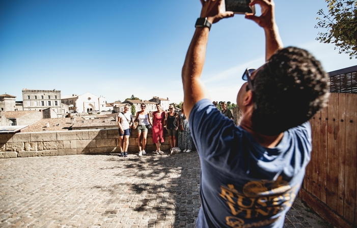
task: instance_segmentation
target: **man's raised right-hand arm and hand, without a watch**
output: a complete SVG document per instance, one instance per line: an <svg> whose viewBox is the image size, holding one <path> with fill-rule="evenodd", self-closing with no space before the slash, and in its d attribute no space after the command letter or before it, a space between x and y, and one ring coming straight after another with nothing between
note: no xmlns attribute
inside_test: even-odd
<svg viewBox="0 0 357 228"><path fill-rule="evenodd" d="M283 42L279 35L278 25L274 17L274 2L272 0L254 0L250 5L259 4L262 14L257 17L254 15L245 15L245 18L255 21L264 29L265 33L265 61L268 61L271 55L280 49L283 49Z"/></svg>

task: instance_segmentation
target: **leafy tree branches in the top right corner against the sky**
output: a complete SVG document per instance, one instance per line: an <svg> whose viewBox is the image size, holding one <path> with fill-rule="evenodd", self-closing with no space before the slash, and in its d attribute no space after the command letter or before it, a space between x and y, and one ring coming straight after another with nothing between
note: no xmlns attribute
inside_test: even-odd
<svg viewBox="0 0 357 228"><path fill-rule="evenodd" d="M328 14L323 10L317 12L323 18L318 20L315 28L327 28L326 32L318 32L316 40L320 43L333 43L335 49L349 54L349 58L357 58L357 2L355 0L325 0Z"/></svg>

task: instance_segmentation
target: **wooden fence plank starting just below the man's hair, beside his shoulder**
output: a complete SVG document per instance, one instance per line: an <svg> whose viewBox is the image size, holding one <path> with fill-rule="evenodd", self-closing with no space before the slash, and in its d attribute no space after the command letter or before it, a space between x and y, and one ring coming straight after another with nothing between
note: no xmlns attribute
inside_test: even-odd
<svg viewBox="0 0 357 228"><path fill-rule="evenodd" d="M311 119L312 130L312 152L311 152L311 185L313 196L320 199L320 172L319 172L319 151L320 151L320 136L321 136L321 112L316 113ZM320 118L320 119L319 119Z"/></svg>

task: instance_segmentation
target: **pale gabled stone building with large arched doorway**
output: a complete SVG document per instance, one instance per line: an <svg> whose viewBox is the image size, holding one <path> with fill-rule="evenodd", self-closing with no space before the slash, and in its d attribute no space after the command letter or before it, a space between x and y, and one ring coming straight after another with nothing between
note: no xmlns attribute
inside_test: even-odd
<svg viewBox="0 0 357 228"><path fill-rule="evenodd" d="M82 95L72 94L62 96L62 103L68 105L69 113L72 112L100 112L106 111L105 97L96 96L93 93L86 92Z"/></svg>

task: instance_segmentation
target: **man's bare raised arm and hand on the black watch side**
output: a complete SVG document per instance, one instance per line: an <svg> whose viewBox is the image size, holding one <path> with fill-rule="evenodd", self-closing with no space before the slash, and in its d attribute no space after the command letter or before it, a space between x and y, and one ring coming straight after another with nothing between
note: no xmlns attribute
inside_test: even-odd
<svg viewBox="0 0 357 228"><path fill-rule="evenodd" d="M211 24L222 18L232 17L234 15L233 12L225 12L225 9L222 9L223 0L200 1L202 3L200 17L207 18L207 21ZM210 98L207 88L201 80L201 73L206 56L208 33L208 27L196 27L182 68L183 101L187 118L189 118L191 109L198 101L204 98Z"/></svg>

